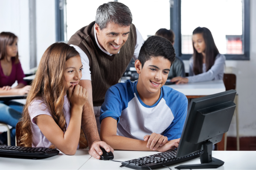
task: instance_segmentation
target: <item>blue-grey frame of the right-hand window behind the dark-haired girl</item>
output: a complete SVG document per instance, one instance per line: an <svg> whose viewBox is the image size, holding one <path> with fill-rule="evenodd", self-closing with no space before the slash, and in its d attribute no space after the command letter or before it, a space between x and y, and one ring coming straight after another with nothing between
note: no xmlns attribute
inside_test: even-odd
<svg viewBox="0 0 256 170"><path fill-rule="evenodd" d="M192 54L181 53L181 0L170 0L171 29L175 33L175 54L188 60ZM250 0L242 0L242 44L244 54L224 54L227 60L250 60Z"/></svg>

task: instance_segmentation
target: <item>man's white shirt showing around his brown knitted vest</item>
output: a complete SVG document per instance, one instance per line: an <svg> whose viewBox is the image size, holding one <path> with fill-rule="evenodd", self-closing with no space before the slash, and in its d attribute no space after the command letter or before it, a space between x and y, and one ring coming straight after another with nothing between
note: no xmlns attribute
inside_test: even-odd
<svg viewBox="0 0 256 170"><path fill-rule="evenodd" d="M141 46L143 45L144 43L144 40L143 40L143 37L142 35L140 34L139 30L136 28L136 34L137 34L137 39L136 39L136 45L135 45L135 50L134 50L134 55L133 55L133 58L134 60L138 59L139 57L139 53L140 53L140 48ZM99 45L99 42L98 42L98 39L97 39L97 35L96 35L96 30L95 30L95 27L94 27L94 36L95 36L95 40L96 40L96 43L97 45L99 46L99 48L105 53L105 54L108 54L108 55L112 55L110 54L108 51L104 50L100 45ZM83 65L83 70L82 70L82 77L81 77L81 80L91 80L91 74L90 74L90 63L89 63L89 59L87 57L87 55L84 53L84 51L79 48L78 46L76 45L70 45L70 46L73 46L77 52L79 52L80 54L80 57L81 57L81 62L82 62L82 65ZM119 53L119 51L118 51Z"/></svg>

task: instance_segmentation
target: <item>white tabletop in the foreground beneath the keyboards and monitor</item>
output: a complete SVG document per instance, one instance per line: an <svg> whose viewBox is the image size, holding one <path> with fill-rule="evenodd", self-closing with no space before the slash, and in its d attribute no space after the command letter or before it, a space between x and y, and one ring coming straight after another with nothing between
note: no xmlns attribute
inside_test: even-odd
<svg viewBox="0 0 256 170"><path fill-rule="evenodd" d="M149 156L157 152L143 151L114 151L114 160L128 161L143 156ZM256 169L256 151L212 151L212 156L224 161L224 165L217 168L219 170L255 170ZM200 158L183 162L181 164L200 164ZM120 167L121 162L103 161L94 159L88 154L87 149L79 149L74 156L67 156L59 153L47 159L15 159L0 157L0 169L4 170L52 170L52 169L73 169L73 170L122 170L128 167ZM169 166L172 170L176 170L180 164ZM167 167L160 170L168 170Z"/></svg>

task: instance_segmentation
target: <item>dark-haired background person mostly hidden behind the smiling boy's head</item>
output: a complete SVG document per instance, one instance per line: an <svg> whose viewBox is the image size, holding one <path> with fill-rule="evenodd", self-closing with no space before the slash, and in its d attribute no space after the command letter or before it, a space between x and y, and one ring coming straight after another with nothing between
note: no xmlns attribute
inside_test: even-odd
<svg viewBox="0 0 256 170"><path fill-rule="evenodd" d="M174 45L175 34L171 29L168 30L166 28L161 28L156 32L155 35L166 38L167 40L171 41L172 45ZM177 56L175 57L175 62L172 64L168 74L168 79L172 79L173 77L185 77L184 63L182 59Z"/></svg>

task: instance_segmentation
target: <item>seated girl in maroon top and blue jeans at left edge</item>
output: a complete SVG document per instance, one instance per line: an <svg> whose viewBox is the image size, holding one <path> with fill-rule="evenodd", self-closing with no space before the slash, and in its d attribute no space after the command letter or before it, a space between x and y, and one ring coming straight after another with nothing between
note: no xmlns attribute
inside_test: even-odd
<svg viewBox="0 0 256 170"><path fill-rule="evenodd" d="M30 85L23 81L25 77L20 65L17 36L11 32L0 33L0 95L26 94ZM18 85L11 86L17 80ZM12 126L11 145L15 145L15 127L22 113L23 105L13 101L0 101L0 122ZM0 135L0 144L7 143L6 133Z"/></svg>

